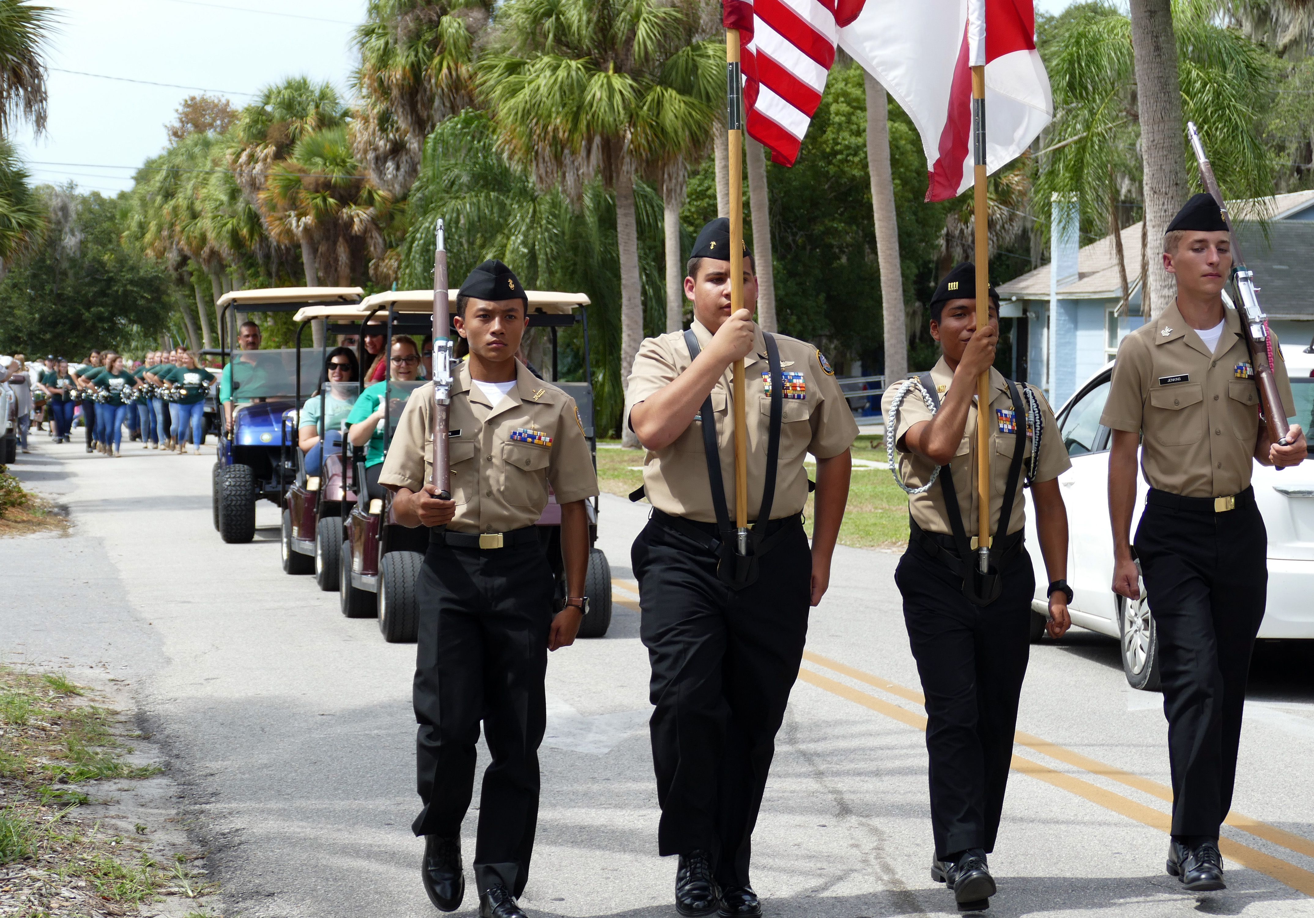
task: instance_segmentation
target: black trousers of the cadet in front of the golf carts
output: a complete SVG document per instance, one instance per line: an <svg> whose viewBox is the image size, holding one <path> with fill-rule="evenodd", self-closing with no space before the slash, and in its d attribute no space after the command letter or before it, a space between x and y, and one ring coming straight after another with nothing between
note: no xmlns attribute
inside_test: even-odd
<svg viewBox="0 0 1314 918"><path fill-rule="evenodd" d="M423 809L417 835L459 836L474 785L484 722L493 763L484 772L474 881L520 896L539 818L539 743L553 580L537 543L495 550L430 543L417 581L415 765Z"/></svg>

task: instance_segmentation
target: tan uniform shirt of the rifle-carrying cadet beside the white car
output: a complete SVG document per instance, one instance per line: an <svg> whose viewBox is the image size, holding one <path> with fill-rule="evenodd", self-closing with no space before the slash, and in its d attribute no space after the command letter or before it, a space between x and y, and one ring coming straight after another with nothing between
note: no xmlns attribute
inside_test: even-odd
<svg viewBox="0 0 1314 918"><path fill-rule="evenodd" d="M1143 433L1141 468L1151 488L1185 497L1226 497L1250 487L1259 442L1259 385L1240 316L1210 354L1177 312L1163 310L1122 339L1100 423ZM1286 416L1296 414L1282 351L1273 338L1273 375Z"/></svg>

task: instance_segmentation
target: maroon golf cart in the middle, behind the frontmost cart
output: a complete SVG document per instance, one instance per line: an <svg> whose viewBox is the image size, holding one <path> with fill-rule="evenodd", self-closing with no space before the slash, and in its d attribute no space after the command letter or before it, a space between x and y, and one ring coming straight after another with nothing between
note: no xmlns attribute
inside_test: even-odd
<svg viewBox="0 0 1314 918"><path fill-rule="evenodd" d="M301 337L309 322L322 320L326 322L325 343L319 360L315 366L325 367L328 354L328 339L332 335L360 331L360 310L356 305L331 306L305 306L293 317L297 321L297 350L301 350ZM298 360L298 364L301 362ZM360 368L360 374L364 370ZM330 388L342 400L355 402L363 388L359 380L351 383L325 383L323 374L318 377L319 417L326 417L325 402ZM296 430L309 401L302 401L315 387L309 380L297 377L297 420L293 425ZM323 425L321 425L323 426ZM339 442L336 448L331 443L336 434ZM356 492L351 481L351 463L342 450L342 441L346 441L346 423L335 430L325 430L321 434L321 468L315 475L310 475L306 468L305 454L300 446L294 451L296 477L288 488L285 508L283 510L283 569L285 573L315 575L319 589L332 592L338 589L340 572L339 558L342 551L342 519L356 502Z"/></svg>

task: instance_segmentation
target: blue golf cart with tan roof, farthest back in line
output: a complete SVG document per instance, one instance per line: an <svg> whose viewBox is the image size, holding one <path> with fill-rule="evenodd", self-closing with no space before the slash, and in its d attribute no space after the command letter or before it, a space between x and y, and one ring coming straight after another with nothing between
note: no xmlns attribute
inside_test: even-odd
<svg viewBox="0 0 1314 918"><path fill-rule="evenodd" d="M360 302L359 287L276 287L231 291L219 297L221 359L230 367L233 423L219 423L214 464L214 527L225 542L255 537L255 504L283 506L298 452L296 408L298 376L319 375L319 355L300 349L243 351L237 347L237 313L296 312L310 304ZM221 371L222 374L222 371Z"/></svg>

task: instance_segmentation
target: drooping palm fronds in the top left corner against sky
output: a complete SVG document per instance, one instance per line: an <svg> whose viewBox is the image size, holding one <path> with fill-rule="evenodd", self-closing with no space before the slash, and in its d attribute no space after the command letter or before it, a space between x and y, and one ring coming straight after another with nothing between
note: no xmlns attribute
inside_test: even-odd
<svg viewBox="0 0 1314 918"><path fill-rule="evenodd" d="M57 11L29 0L0 0L0 135L26 121L46 130L45 50Z"/></svg>

